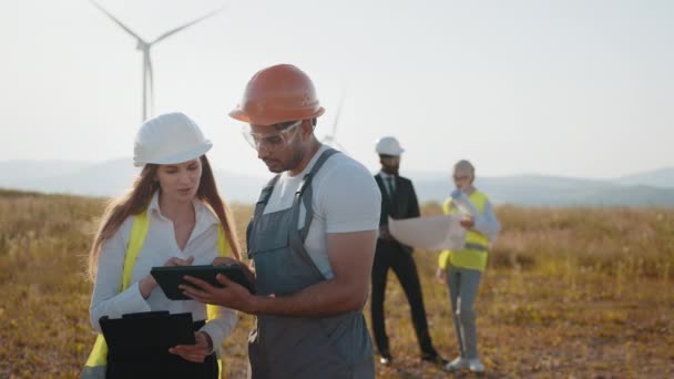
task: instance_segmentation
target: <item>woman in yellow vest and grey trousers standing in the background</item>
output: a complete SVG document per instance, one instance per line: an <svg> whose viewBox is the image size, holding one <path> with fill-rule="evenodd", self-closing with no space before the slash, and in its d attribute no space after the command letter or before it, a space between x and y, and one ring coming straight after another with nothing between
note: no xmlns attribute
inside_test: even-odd
<svg viewBox="0 0 674 379"><path fill-rule="evenodd" d="M445 250L439 257L438 277L449 287L460 356L445 366L449 371L484 371L478 356L476 311L480 277L487 266L487 249L501 229L489 198L473 186L476 171L468 161L455 165L457 188L445 202L445 214L462 214L466 245L458 252Z"/></svg>

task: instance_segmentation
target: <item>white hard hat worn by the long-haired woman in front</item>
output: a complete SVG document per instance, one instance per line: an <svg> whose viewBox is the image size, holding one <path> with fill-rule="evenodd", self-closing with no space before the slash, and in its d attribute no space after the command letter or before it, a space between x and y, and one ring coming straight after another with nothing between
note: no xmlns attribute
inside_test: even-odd
<svg viewBox="0 0 674 379"><path fill-rule="evenodd" d="M145 121L135 135L133 164L175 164L204 155L213 144L183 113L166 113Z"/></svg>

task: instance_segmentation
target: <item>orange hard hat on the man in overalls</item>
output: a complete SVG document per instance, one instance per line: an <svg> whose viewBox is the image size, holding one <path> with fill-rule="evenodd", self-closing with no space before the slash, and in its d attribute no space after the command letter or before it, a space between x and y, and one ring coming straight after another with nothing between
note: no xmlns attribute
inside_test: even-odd
<svg viewBox="0 0 674 379"><path fill-rule="evenodd" d="M277 64L251 78L229 116L248 124L273 125L315 119L324 112L309 76L292 64Z"/></svg>

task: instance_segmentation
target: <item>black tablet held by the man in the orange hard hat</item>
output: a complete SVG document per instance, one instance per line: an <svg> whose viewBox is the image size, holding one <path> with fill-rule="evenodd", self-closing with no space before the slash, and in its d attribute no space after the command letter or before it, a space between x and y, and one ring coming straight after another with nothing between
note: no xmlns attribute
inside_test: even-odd
<svg viewBox="0 0 674 379"><path fill-rule="evenodd" d="M183 295L183 290L177 287L181 284L191 285L190 281L183 278L185 275L207 281L215 287L224 287L215 279L217 274L222 274L229 278L229 280L246 287L251 294L255 294L255 287L251 280L248 280L244 270L245 268L239 265L167 266L152 267L150 274L152 274L167 298L172 300L191 300Z"/></svg>

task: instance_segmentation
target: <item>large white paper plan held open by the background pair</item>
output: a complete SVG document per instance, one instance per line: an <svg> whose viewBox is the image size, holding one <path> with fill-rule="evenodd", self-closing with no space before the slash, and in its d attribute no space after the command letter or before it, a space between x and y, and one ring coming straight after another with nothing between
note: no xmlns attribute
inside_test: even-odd
<svg viewBox="0 0 674 379"><path fill-rule="evenodd" d="M389 233L400 243L426 250L460 250L466 244L461 215L388 219Z"/></svg>

